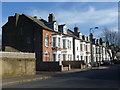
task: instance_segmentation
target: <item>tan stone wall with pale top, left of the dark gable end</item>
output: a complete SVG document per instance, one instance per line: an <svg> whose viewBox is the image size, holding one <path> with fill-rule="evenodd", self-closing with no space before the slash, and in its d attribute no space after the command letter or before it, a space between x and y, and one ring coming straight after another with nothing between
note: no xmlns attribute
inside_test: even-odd
<svg viewBox="0 0 120 90"><path fill-rule="evenodd" d="M34 53L0 52L2 78L11 78L36 74Z"/></svg>

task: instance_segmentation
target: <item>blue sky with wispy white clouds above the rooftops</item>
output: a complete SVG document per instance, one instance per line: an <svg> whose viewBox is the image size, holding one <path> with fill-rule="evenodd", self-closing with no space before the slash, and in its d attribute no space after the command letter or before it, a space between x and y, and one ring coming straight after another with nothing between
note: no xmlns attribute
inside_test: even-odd
<svg viewBox="0 0 120 90"><path fill-rule="evenodd" d="M89 35L90 28L99 27L93 29L96 38L104 28L118 30L118 2L2 2L2 25L15 13L45 20L54 13L58 24L66 24L72 31L77 26L84 35Z"/></svg>

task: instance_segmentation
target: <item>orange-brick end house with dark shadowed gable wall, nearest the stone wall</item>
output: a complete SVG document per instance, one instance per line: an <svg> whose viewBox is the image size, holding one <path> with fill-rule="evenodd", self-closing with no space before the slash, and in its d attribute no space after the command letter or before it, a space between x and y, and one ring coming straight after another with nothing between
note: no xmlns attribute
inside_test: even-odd
<svg viewBox="0 0 120 90"><path fill-rule="evenodd" d="M41 62L53 62L52 38L61 35L57 30L53 14L49 14L47 22L36 16L16 13L2 27L2 51L35 52L36 69L40 70ZM54 48L54 51L60 50Z"/></svg>

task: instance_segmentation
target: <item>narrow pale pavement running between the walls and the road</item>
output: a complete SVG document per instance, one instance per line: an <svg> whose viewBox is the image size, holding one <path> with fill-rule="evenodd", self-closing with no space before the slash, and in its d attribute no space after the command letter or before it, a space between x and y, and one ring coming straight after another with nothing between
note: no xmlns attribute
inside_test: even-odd
<svg viewBox="0 0 120 90"><path fill-rule="evenodd" d="M63 71L63 72L39 71L39 72L37 72L36 75L33 75L33 76L24 76L24 77L17 77L17 78L2 79L2 86L32 82L32 81L43 80L43 79L50 79L54 75L57 75L57 74L78 72L78 71L84 71L84 70L88 70L88 69L106 69L106 68L109 68L109 67L108 66L101 66L101 67L92 67L92 68L87 68L87 69L71 69L70 71Z"/></svg>

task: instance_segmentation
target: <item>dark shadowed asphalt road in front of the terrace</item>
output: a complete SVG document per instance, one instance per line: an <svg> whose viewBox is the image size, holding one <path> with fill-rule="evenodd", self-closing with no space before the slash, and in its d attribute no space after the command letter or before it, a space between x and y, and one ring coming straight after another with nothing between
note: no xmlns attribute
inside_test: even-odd
<svg viewBox="0 0 120 90"><path fill-rule="evenodd" d="M51 79L3 88L120 88L120 66L56 74Z"/></svg>

